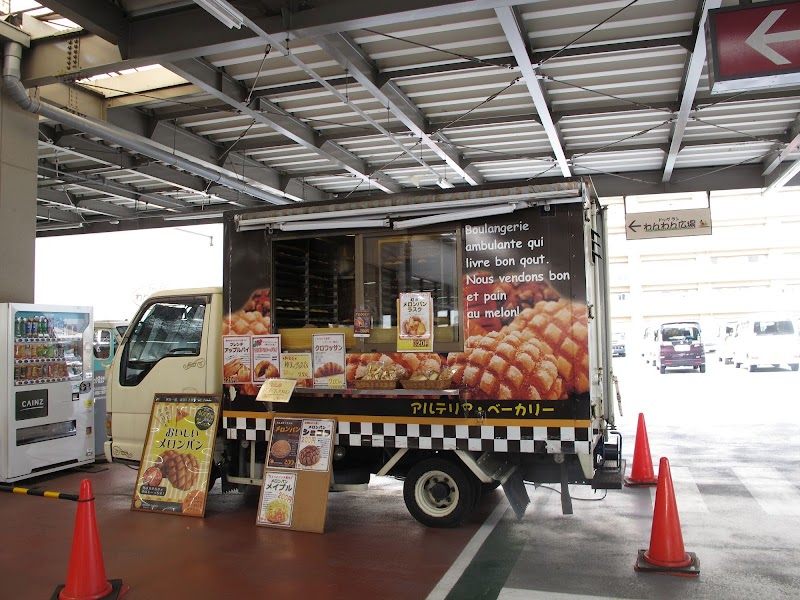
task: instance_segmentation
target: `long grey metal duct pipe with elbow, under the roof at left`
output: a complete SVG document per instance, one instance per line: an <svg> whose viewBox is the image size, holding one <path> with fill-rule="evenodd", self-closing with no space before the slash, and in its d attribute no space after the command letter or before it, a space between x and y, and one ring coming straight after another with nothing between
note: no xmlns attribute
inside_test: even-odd
<svg viewBox="0 0 800 600"><path fill-rule="evenodd" d="M259 198L271 204L293 204L292 201L283 197L280 192L270 193L266 190L242 183L238 179L204 166L199 162L194 162L178 156L161 144L125 131L120 127L115 127L114 125L101 121L95 121L88 117L81 117L35 98L31 98L25 86L22 85L21 65L22 45L17 42L7 42L3 54L3 83L8 95L24 110L42 115L43 117L52 119L62 125L73 127L84 133L96 135L109 142L119 144L123 148L139 152L140 154L172 165L173 167L183 169L193 175L203 177L232 190L247 194L248 196Z"/></svg>

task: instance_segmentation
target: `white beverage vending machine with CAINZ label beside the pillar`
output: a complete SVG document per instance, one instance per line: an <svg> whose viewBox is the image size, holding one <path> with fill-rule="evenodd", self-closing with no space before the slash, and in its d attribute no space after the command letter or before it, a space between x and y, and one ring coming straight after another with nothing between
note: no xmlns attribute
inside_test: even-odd
<svg viewBox="0 0 800 600"><path fill-rule="evenodd" d="M94 462L92 309L0 303L0 481Z"/></svg>

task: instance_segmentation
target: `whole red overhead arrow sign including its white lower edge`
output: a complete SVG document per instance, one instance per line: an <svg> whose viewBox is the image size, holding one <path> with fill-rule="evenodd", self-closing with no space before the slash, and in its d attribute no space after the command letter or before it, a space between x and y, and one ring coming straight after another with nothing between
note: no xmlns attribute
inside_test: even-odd
<svg viewBox="0 0 800 600"><path fill-rule="evenodd" d="M711 10L706 29L712 93L800 83L800 3Z"/></svg>

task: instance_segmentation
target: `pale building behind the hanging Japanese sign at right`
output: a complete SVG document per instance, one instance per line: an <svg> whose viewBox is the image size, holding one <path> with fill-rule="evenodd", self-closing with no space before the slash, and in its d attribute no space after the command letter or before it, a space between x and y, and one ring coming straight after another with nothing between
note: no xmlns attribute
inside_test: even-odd
<svg viewBox="0 0 800 600"><path fill-rule="evenodd" d="M699 208L712 234L627 240L625 213ZM800 317L800 202L796 190L605 198L612 321L638 354L646 327L692 319L709 341L718 327L754 312Z"/></svg>

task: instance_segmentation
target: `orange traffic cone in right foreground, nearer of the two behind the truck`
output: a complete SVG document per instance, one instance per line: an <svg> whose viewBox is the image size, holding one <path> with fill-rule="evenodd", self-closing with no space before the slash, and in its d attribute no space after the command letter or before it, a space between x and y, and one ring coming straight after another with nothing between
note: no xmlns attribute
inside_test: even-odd
<svg viewBox="0 0 800 600"><path fill-rule="evenodd" d="M681 577L700 575L700 560L693 552L683 549L681 522L672 489L669 461L662 458L658 465L658 487L653 511L653 528L649 550L639 550L634 570L663 573Z"/></svg>

